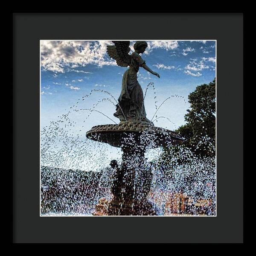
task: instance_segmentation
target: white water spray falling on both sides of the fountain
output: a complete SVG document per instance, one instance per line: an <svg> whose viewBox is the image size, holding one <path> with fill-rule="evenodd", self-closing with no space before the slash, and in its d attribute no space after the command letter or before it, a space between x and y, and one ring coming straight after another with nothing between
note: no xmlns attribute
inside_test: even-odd
<svg viewBox="0 0 256 256"><path fill-rule="evenodd" d="M99 102L109 101L115 105L113 101L116 102L116 99L110 93L95 91L111 96L111 99L103 98ZM89 95L81 97L82 101L87 97ZM76 121L76 113L96 112L115 122L105 113L94 109L99 102L94 104L94 108L78 108L81 99L70 107L70 111L58 116L57 121L51 121L41 129L42 215L91 215L100 198L108 200L113 196L113 169L109 163L113 150L116 150L116 160L120 166L122 152L108 144L88 140L82 130L84 125L81 126ZM156 107L156 113L159 108ZM156 116L154 121L160 118L171 122L164 116ZM166 154L166 149L154 148L153 136L147 131L141 134L141 141L148 150L145 153L145 163L140 164L151 170L152 185L148 200L156 205L158 214L175 215L186 210L186 214L190 215L199 215L200 211L206 215L215 215L215 157L198 157L184 145L173 146L171 143L166 146L169 151ZM132 135L129 140L132 140ZM160 137L159 140L163 138ZM212 150L215 147L206 136L198 137L195 148L199 146L207 149L212 147ZM131 160L130 164L133 165L136 161L138 159ZM140 175L137 172L137 180L143 182ZM182 209L182 200L188 202L185 210Z"/></svg>

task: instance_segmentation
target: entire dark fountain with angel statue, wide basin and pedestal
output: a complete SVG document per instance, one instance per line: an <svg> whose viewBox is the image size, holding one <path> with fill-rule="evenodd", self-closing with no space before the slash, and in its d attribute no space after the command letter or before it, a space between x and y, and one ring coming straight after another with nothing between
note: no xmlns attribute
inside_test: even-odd
<svg viewBox="0 0 256 256"><path fill-rule="evenodd" d="M122 80L122 91L116 105L114 116L119 124L97 125L87 131L86 137L108 143L122 149L121 166L113 161L111 192L113 198L102 199L96 205L94 215L157 215L153 204L147 200L150 191L152 173L145 161L145 151L151 148L168 147L180 144L183 138L177 133L155 127L146 118L143 91L137 81L139 67L160 78L146 66L140 57L147 47L145 41L134 44L135 52L131 55L129 41L113 41L108 46L108 55L121 67L128 67Z"/></svg>

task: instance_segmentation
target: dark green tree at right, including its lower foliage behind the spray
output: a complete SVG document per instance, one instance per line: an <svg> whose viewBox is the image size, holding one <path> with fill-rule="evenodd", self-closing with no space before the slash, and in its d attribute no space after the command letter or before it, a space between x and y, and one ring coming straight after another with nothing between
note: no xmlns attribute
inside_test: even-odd
<svg viewBox="0 0 256 256"><path fill-rule="evenodd" d="M191 107L185 115L187 123L176 130L185 140L182 145L164 148L158 161L166 180L172 180L180 166L189 169L201 161L215 166L215 79L196 87L188 98Z"/></svg>

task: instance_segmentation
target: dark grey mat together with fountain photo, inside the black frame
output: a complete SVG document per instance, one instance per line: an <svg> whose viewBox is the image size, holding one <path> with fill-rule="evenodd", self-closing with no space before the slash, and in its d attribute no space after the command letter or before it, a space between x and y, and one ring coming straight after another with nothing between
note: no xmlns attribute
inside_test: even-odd
<svg viewBox="0 0 256 256"><path fill-rule="evenodd" d="M15 243L243 242L242 14L13 25Z"/></svg>

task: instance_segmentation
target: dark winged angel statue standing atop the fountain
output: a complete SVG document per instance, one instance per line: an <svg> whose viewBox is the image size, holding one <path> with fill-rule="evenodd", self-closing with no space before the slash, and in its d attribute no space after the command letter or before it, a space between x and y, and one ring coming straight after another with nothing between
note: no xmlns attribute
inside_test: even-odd
<svg viewBox="0 0 256 256"><path fill-rule="evenodd" d="M108 55L116 60L116 64L120 67L128 67L122 79L122 90L116 105L116 113L114 116L122 121L142 121L152 122L146 118L143 90L137 80L137 73L140 67L151 74L160 78L159 74L152 71L141 58L140 53L145 52L148 44L145 41L137 41L134 44L132 54L129 54L131 48L130 41L112 41L114 45L107 46Z"/></svg>

